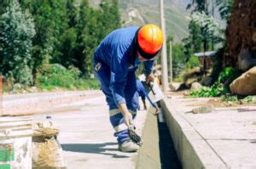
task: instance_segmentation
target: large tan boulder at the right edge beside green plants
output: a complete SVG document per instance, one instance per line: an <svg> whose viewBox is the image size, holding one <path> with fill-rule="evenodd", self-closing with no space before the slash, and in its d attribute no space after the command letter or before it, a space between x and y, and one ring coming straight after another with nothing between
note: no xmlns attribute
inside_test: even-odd
<svg viewBox="0 0 256 169"><path fill-rule="evenodd" d="M241 95L255 95L256 94L256 66L247 70L230 84L232 93Z"/></svg>

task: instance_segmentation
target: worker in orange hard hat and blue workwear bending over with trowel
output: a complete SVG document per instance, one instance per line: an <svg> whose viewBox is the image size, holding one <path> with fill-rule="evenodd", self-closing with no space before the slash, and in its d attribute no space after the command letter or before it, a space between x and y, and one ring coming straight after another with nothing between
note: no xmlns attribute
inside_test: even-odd
<svg viewBox="0 0 256 169"><path fill-rule="evenodd" d="M101 83L109 107L110 122L115 130L119 150L137 151L128 128L134 127L139 108L135 72L144 63L146 81L154 81L154 59L160 53L163 33L157 25L125 27L105 37L93 58L96 78Z"/></svg>

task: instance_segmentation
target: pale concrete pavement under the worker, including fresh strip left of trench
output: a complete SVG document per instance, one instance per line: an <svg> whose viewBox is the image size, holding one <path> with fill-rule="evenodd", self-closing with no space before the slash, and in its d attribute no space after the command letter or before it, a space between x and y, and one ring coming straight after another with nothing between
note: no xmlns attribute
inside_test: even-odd
<svg viewBox="0 0 256 169"><path fill-rule="evenodd" d="M148 104L148 102L147 102ZM4 95L4 115L32 115L45 121L50 115L60 129L67 168L160 168L157 117L139 110L135 121L143 146L137 153L118 149L110 125L108 105L101 91ZM152 110L154 111L154 110Z"/></svg>

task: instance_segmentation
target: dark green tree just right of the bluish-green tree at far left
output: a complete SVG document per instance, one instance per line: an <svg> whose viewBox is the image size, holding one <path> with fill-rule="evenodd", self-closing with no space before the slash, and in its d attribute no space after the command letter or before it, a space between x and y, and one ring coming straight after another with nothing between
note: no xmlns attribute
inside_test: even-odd
<svg viewBox="0 0 256 169"><path fill-rule="evenodd" d="M67 29L66 0L21 1L34 18L37 34L33 37L32 75L35 82L38 70L58 57L61 34Z"/></svg>

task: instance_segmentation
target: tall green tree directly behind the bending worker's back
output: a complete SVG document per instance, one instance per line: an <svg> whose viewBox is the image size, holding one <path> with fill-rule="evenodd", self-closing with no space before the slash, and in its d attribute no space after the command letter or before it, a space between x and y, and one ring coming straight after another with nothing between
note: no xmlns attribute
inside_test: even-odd
<svg viewBox="0 0 256 169"><path fill-rule="evenodd" d="M119 27L119 10L117 1L104 1L100 9L89 7L88 0L79 5L79 16L75 29L77 32L73 65L81 70L85 77L90 76L94 51L103 37Z"/></svg>

